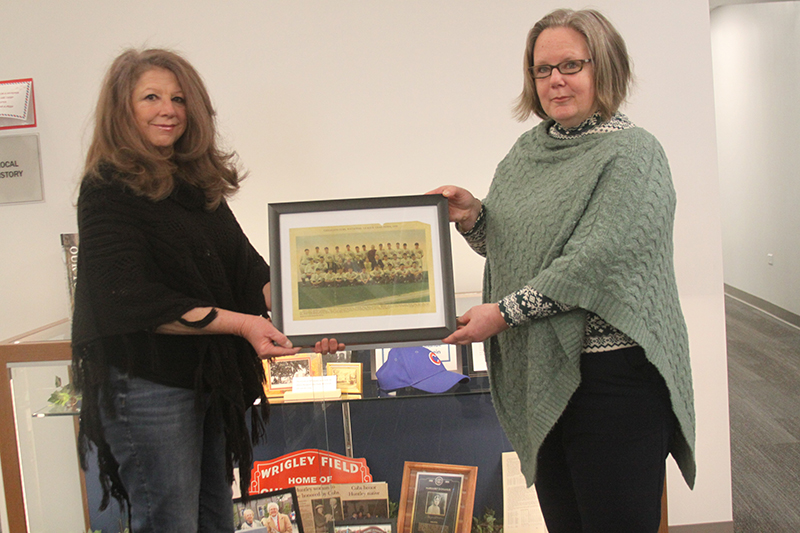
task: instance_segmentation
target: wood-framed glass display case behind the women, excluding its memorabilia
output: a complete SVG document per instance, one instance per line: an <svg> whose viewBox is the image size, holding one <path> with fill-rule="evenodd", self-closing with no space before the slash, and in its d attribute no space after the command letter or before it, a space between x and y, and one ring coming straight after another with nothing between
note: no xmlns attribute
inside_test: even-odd
<svg viewBox="0 0 800 533"><path fill-rule="evenodd" d="M464 308L460 312L475 300L457 298L458 307ZM67 393L71 383L69 334L70 323L64 319L0 343L0 361L8 376L0 380L0 429L3 435L16 436L4 438L0 444L5 495L2 531L49 532L54 527L75 533L124 530L116 506L103 512L97 509L100 488L94 458L89 458L88 473L80 469L76 445L79 405L71 403ZM409 387L387 395L379 391L375 377L376 365L385 360L387 352L347 352L347 363L358 363L361 371L358 394L351 391L336 401L296 403L283 403L283 398L270 394L269 438L254 449L254 459L267 460L305 448L367 457L375 479L389 482L390 487L396 485L396 491L400 489L404 458L469 460L441 452L464 449L474 453L474 447L465 446L464 428L469 424L459 429L459 419L466 416L480 422L481 413L486 411L493 416L488 380L480 363L474 368L470 351L459 348L457 357L446 363L451 368L455 364L455 371L470 373L469 383L445 394L432 395ZM450 355L454 353L451 350ZM323 362L316 372L327 374L328 370L327 362ZM473 398L465 400L464 396ZM477 403L473 406L470 402ZM414 428L417 412L427 423ZM409 422L412 427L404 427ZM484 436L493 433L482 427ZM420 430L424 433L434 428L441 437L415 436ZM431 448L437 439L441 442ZM419 453L418 447L422 449ZM431 454L431 450L438 451Z"/></svg>

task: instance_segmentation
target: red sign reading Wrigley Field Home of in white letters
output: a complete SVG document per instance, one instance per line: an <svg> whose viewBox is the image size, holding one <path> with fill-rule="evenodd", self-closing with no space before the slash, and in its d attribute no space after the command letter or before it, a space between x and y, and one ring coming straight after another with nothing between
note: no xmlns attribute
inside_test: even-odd
<svg viewBox="0 0 800 533"><path fill-rule="evenodd" d="M372 475L366 459L309 449L254 462L251 479L250 494L260 494L298 485L371 483Z"/></svg>

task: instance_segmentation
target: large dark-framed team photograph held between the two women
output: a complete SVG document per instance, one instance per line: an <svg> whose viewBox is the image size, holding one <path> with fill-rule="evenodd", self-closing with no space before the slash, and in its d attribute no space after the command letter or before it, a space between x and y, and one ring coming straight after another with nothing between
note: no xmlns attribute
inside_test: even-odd
<svg viewBox="0 0 800 533"><path fill-rule="evenodd" d="M295 346L442 339L456 327L441 195L269 204L272 320Z"/></svg>

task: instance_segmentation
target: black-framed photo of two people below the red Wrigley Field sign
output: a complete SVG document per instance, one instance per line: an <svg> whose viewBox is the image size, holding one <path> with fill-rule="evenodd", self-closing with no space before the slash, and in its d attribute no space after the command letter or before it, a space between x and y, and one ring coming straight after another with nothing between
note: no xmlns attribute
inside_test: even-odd
<svg viewBox="0 0 800 533"><path fill-rule="evenodd" d="M251 496L247 503L236 498L233 500L233 525L236 531L304 533L294 487Z"/></svg>

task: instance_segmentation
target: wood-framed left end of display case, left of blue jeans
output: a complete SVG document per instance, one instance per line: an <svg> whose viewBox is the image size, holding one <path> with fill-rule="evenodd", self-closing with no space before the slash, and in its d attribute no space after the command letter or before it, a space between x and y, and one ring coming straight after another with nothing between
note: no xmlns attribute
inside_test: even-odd
<svg viewBox="0 0 800 533"><path fill-rule="evenodd" d="M64 319L0 343L8 377L0 380L4 531L89 528L77 406L55 398L71 382L69 329Z"/></svg>

